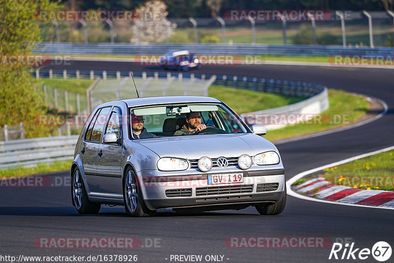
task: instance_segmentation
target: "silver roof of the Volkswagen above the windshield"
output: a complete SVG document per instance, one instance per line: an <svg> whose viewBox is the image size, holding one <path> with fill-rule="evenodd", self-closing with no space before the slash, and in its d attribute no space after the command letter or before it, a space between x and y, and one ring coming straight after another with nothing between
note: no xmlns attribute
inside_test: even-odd
<svg viewBox="0 0 394 263"><path fill-rule="evenodd" d="M191 103L191 102L222 102L219 99L199 96L166 96L166 97L147 97L122 99L128 107L144 106L151 104L168 104L168 103Z"/></svg>

